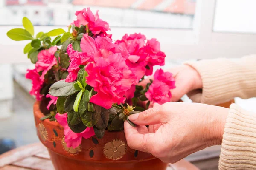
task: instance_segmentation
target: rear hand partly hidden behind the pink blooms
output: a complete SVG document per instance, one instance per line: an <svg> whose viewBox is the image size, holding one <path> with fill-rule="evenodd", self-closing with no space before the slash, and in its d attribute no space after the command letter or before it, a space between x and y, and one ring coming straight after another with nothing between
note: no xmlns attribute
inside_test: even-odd
<svg viewBox="0 0 256 170"><path fill-rule="evenodd" d="M189 65L179 65L177 67L165 70L173 74L175 78L175 89L172 89L171 102L177 102L180 98L187 94L189 91L203 88L203 82L200 74ZM145 87L149 79L154 79L153 76L141 81L138 85Z"/></svg>

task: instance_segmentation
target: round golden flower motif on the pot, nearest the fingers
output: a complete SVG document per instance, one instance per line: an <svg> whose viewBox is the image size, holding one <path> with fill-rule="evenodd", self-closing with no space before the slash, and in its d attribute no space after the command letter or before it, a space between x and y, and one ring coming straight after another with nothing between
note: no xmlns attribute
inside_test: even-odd
<svg viewBox="0 0 256 170"><path fill-rule="evenodd" d="M123 157L126 153L126 144L121 139L113 139L103 147L103 153L106 158L117 160Z"/></svg>

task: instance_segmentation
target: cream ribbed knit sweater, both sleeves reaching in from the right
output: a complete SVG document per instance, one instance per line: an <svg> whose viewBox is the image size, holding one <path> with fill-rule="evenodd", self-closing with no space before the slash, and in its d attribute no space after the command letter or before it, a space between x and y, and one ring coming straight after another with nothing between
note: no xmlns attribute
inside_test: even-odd
<svg viewBox="0 0 256 170"><path fill-rule="evenodd" d="M203 89L188 96L195 102L218 104L234 97L256 97L256 55L186 63L202 77ZM255 103L256 105L256 103ZM222 140L220 170L256 170L256 113L230 105Z"/></svg>

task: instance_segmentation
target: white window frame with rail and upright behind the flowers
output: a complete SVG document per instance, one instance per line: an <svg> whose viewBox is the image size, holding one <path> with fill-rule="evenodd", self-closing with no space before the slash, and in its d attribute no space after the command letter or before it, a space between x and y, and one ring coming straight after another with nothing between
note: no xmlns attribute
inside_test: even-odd
<svg viewBox="0 0 256 170"><path fill-rule="evenodd" d="M256 53L256 34L213 31L215 4L216 0L197 0L193 29L112 27L110 33L113 40L134 32L141 32L147 38L157 38L166 53L166 60L234 58ZM0 41L3 52L0 63L29 62L23 54L23 47L28 42L14 42L6 36L6 32L15 27L0 26L0 37L3 37ZM54 28L59 26L35 26L35 32Z"/></svg>

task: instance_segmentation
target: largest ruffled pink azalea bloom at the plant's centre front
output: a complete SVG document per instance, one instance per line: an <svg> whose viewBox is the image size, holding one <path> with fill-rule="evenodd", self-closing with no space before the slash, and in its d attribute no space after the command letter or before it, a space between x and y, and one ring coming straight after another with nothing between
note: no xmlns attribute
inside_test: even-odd
<svg viewBox="0 0 256 170"><path fill-rule="evenodd" d="M136 82L136 77L129 70L121 53L108 57L99 57L95 63L90 62L85 70L88 73L87 84L98 93L90 102L109 109L113 103L125 102L125 91Z"/></svg>

